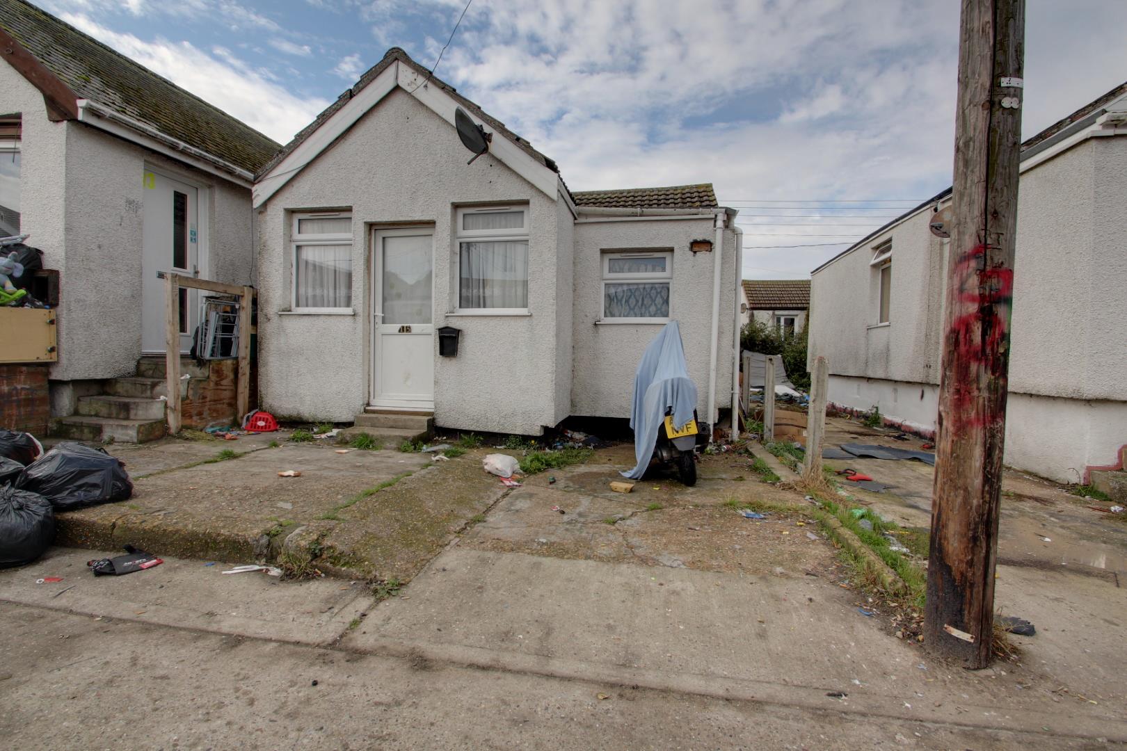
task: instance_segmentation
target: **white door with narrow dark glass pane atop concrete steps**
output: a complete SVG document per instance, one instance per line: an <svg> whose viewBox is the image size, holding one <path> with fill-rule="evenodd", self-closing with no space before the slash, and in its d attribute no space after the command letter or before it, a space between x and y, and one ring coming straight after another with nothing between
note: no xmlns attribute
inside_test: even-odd
<svg viewBox="0 0 1127 751"><path fill-rule="evenodd" d="M144 171L143 242L141 256L141 349L167 350L165 337L165 275L175 271L198 276L199 191L160 172ZM196 329L198 293L180 288L180 351L192 349Z"/></svg>

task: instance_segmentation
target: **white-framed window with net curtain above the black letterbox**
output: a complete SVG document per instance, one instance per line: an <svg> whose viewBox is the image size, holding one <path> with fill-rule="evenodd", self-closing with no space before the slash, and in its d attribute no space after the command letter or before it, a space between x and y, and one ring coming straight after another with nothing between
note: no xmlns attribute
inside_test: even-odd
<svg viewBox="0 0 1127 751"><path fill-rule="evenodd" d="M458 311L529 311L529 207L472 206L455 213Z"/></svg>

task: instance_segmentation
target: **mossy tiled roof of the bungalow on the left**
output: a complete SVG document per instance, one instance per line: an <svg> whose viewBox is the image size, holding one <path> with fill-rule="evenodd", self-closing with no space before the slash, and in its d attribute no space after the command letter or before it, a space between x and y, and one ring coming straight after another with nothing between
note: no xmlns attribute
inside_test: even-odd
<svg viewBox="0 0 1127 751"><path fill-rule="evenodd" d="M246 123L24 0L0 0L0 28L55 79L50 86L56 90L69 89L222 162L254 173L278 149ZM46 96L43 80L29 77L26 65L12 66Z"/></svg>

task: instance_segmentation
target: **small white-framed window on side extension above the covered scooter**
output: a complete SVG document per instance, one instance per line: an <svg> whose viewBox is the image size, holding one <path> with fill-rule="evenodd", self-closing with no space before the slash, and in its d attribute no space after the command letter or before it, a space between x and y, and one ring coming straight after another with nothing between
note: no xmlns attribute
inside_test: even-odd
<svg viewBox="0 0 1127 751"><path fill-rule="evenodd" d="M655 323L669 319L673 251L603 253L603 321Z"/></svg>

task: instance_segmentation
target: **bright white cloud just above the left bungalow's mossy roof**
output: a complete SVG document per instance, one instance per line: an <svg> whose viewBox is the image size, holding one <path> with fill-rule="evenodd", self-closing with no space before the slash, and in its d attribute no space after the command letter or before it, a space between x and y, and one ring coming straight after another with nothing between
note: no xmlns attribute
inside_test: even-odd
<svg viewBox="0 0 1127 751"><path fill-rule="evenodd" d="M223 47L213 47L208 55L188 42L147 42L118 34L87 16L64 14L62 18L281 143L329 104L319 97L294 96L289 87L266 80Z"/></svg>

